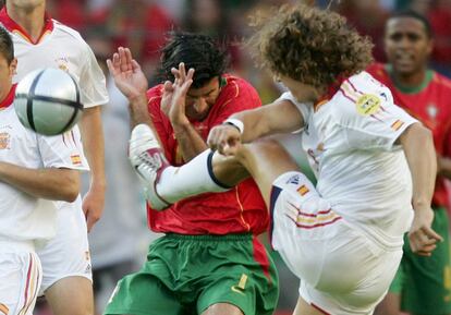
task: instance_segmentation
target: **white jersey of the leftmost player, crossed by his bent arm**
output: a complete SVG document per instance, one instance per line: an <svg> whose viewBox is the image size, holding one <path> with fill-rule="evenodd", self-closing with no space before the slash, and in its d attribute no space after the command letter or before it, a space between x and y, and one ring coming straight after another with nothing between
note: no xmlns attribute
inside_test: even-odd
<svg viewBox="0 0 451 315"><path fill-rule="evenodd" d="M14 107L0 110L0 161L31 169L87 170L80 133L42 136L25 129ZM0 181L0 241L47 241L54 234L56 207Z"/></svg>

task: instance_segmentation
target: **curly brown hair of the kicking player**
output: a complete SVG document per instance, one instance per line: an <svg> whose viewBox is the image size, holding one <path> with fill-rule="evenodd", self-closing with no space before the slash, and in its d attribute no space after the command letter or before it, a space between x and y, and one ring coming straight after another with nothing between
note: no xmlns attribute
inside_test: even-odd
<svg viewBox="0 0 451 315"><path fill-rule="evenodd" d="M260 65L276 75L326 87L373 61L371 40L338 13L298 4L283 5L269 19L253 17L258 31L248 44Z"/></svg>

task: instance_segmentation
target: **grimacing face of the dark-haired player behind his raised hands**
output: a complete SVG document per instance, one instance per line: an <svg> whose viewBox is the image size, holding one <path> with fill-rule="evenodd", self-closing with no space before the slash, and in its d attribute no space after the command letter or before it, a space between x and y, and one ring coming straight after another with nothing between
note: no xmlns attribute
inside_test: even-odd
<svg viewBox="0 0 451 315"><path fill-rule="evenodd" d="M186 94L186 117L198 121L204 120L218 99L220 92L221 86L217 76L203 87L190 88Z"/></svg>

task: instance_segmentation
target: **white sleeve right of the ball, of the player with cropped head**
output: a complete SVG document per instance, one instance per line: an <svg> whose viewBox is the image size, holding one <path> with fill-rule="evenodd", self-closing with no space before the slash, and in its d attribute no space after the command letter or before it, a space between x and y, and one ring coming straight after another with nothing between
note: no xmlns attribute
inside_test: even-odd
<svg viewBox="0 0 451 315"><path fill-rule="evenodd" d="M80 77L81 99L85 108L108 102L107 83L96 57L86 45L86 62Z"/></svg>

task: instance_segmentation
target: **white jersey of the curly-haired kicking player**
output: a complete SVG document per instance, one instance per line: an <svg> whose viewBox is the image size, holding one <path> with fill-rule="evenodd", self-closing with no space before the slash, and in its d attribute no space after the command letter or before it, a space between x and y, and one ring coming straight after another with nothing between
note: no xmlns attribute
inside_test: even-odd
<svg viewBox="0 0 451 315"><path fill-rule="evenodd" d="M316 108L290 93L281 99L295 104L304 117L303 148L320 195L377 240L401 242L413 217L412 179L395 141L416 120L366 72L345 80Z"/></svg>

